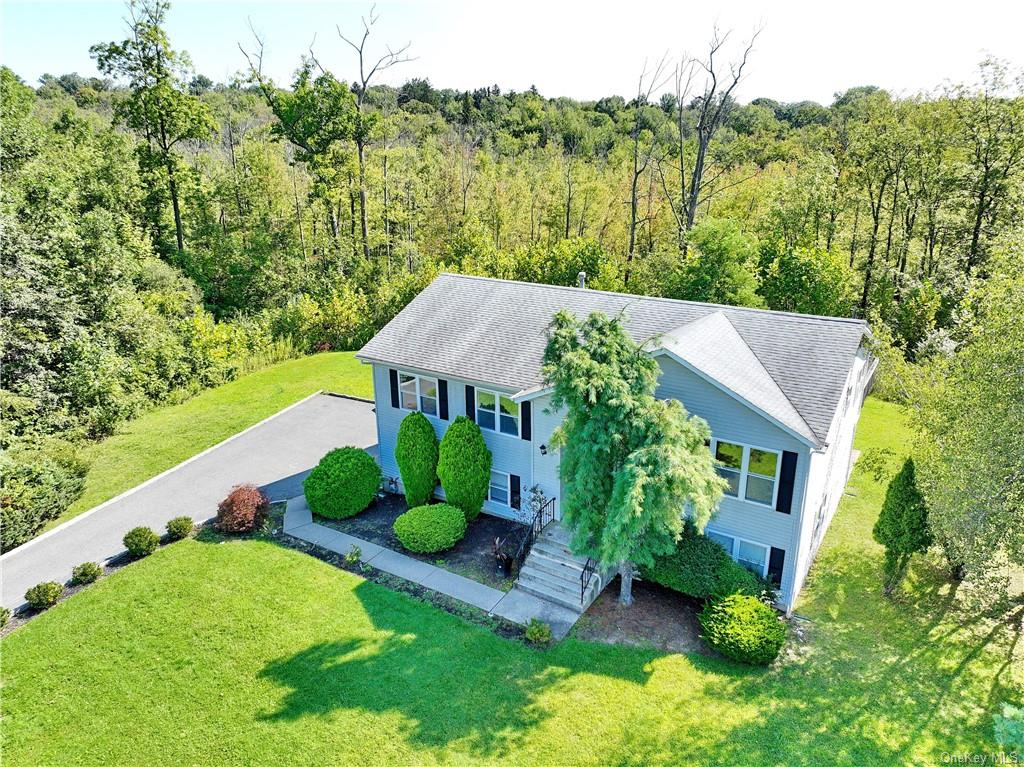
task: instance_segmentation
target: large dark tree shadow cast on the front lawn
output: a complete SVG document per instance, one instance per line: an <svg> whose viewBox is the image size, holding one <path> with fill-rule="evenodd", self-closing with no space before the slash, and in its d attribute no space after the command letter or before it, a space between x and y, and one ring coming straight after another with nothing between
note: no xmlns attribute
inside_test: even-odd
<svg viewBox="0 0 1024 767"><path fill-rule="evenodd" d="M286 690L266 721L328 717L348 710L399 712L413 743L460 749L498 760L559 711L545 693L578 674L644 685L664 653L565 644L536 650L503 639L381 587L360 584L359 598L380 638L313 644L268 664L260 676ZM429 614L424 614L428 610ZM578 645L579 646L579 645ZM602 709L610 700L566 699Z"/></svg>

